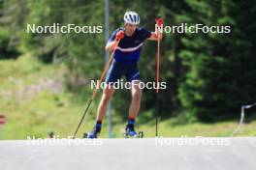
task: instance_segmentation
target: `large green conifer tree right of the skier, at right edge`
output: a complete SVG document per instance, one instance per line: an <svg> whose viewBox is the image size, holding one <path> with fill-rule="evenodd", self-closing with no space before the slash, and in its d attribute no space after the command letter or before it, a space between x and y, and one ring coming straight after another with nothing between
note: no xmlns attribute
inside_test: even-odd
<svg viewBox="0 0 256 170"><path fill-rule="evenodd" d="M251 66L256 60L252 52L253 42L245 36L245 33L253 35L255 25L249 25L247 28L250 29L242 26L253 23L255 14L235 12L248 5L255 9L255 3L234 3L229 0L187 0L186 3L190 11L184 15L191 23L231 25L232 33L186 34L181 39L185 48L179 54L184 66L179 99L187 111L200 120L236 118L240 105L255 97L250 79L256 75ZM246 88L242 88L245 84Z"/></svg>

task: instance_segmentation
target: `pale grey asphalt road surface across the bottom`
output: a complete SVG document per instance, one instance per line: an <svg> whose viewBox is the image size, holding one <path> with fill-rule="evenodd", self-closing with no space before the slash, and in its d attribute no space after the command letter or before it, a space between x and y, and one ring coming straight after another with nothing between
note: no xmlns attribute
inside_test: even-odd
<svg viewBox="0 0 256 170"><path fill-rule="evenodd" d="M255 170L256 137L2 140L0 169Z"/></svg>

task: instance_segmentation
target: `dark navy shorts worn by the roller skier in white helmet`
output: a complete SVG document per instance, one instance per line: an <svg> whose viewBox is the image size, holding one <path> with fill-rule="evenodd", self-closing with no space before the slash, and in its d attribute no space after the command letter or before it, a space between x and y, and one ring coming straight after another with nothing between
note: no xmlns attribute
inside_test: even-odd
<svg viewBox="0 0 256 170"><path fill-rule="evenodd" d="M137 63L134 64L123 64L113 60L112 66L107 73L106 82L116 82L125 75L126 80L131 82L133 80L141 80L140 71L138 70Z"/></svg>

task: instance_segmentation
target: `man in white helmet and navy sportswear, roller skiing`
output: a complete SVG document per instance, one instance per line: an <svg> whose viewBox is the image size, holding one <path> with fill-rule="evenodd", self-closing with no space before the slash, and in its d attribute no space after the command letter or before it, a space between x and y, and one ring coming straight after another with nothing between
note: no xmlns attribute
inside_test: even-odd
<svg viewBox="0 0 256 170"><path fill-rule="evenodd" d="M124 27L113 31L112 37L105 47L107 51L115 50L112 66L106 76L106 82L109 83L110 86L103 90L103 95L98 105L96 123L92 131L87 134L88 138L97 138L99 135L102 127L102 120L114 93L114 88L111 84L118 81L122 75L125 75L126 80L131 82L130 91L132 95L125 131L129 136L137 135L134 126L141 107L142 99L142 89L139 87L141 77L140 71L137 68L137 63L140 59L144 41L157 41L158 39L162 39L162 34L149 32L144 28L139 27L140 15L135 12L126 12L123 19Z"/></svg>

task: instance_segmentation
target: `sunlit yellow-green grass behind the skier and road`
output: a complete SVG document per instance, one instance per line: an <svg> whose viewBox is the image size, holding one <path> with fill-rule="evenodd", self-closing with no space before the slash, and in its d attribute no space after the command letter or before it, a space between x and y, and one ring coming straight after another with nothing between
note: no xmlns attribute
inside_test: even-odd
<svg viewBox="0 0 256 170"><path fill-rule="evenodd" d="M3 139L25 139L29 136L47 137L53 130L60 137L72 135L80 121L87 100L80 101L75 94L65 90L54 92L51 88L35 90L45 80L58 80L66 71L63 65L44 65L30 55L17 60L0 60L0 113L7 117L2 127ZM54 89L54 87L53 87ZM22 91L23 90L23 91ZM21 94L21 95L20 95ZM91 91L86 96L89 99ZM78 136L93 127L98 98L92 103ZM86 98L85 98L86 99ZM113 136L122 137L125 123L113 113ZM144 121L150 112L141 113L138 129L144 130L145 137L154 136L154 120ZM237 128L237 122L216 124L176 124L176 119L161 121L159 135L162 136L229 136ZM179 118L180 119L180 118ZM101 137L108 137L107 120ZM245 124L237 136L256 135L256 121Z"/></svg>

